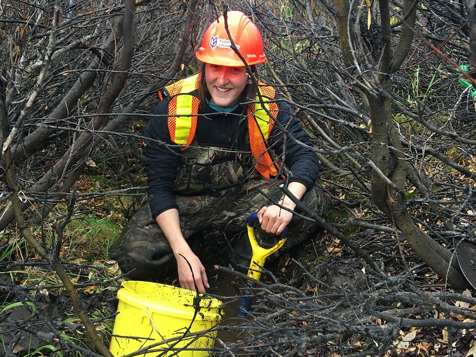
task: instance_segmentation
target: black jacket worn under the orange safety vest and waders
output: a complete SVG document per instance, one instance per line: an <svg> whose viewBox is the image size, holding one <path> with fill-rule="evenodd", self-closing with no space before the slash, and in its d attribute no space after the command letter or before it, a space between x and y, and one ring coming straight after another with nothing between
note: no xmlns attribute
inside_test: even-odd
<svg viewBox="0 0 476 357"><path fill-rule="evenodd" d="M278 98L277 98L278 99ZM149 205L153 217L162 212L177 208L174 197L174 180L177 176L182 151L170 139L167 126L169 98L165 97L155 109L154 116L149 121L144 136L154 139L146 140L143 147L143 165L149 184ZM302 128L299 120L293 116L290 106L278 102L279 114L277 120L287 128L290 135L298 141L311 145L309 135ZM217 113L206 103L201 103L198 110L195 139L199 146L214 146L235 151L249 151L247 145L248 124L245 106L238 106L232 113ZM283 132L275 123L268 138L268 145L276 156L283 156ZM284 162L289 168L288 182L297 181L310 189L317 179L319 163L315 154L295 143L289 137L285 141Z"/></svg>

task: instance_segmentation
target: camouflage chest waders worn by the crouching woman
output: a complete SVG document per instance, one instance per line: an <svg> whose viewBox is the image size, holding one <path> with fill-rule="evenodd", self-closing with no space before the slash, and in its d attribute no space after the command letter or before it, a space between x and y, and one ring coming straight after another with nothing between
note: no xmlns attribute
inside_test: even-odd
<svg viewBox="0 0 476 357"><path fill-rule="evenodd" d="M257 188L276 201L283 196L279 186L284 180L250 177L254 175L254 168L249 154L244 157L246 155L213 148L190 148L184 153L188 155L182 157L175 182L176 192L179 192L176 203L183 237L192 250L201 242L188 238L205 229L217 228L227 235L245 233L249 215L270 204ZM240 183L240 179L245 183ZM195 195L180 195L187 192ZM301 201L320 216L329 210L329 199L317 186L307 191ZM301 213L298 208L296 212ZM269 259L276 259L278 254L303 242L316 228L314 223L295 215L289 224L285 246ZM230 256L235 263L246 267L251 259L251 247L247 235L242 236ZM279 237L273 235L273 239L277 241ZM169 242L152 218L148 204L127 223L111 248L111 257L119 262L122 272L134 269L129 278L137 280L155 280L175 270L177 265Z"/></svg>

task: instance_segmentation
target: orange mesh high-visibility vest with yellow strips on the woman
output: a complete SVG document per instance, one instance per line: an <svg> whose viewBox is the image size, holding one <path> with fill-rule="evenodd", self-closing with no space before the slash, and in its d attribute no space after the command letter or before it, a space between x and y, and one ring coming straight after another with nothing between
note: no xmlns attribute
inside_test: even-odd
<svg viewBox="0 0 476 357"><path fill-rule="evenodd" d="M198 89L200 77L201 73L198 73L165 87L171 97L168 119L170 138L176 144L188 146L195 136L200 100L189 93ZM263 98L275 98L276 90L273 87L259 82L258 88ZM159 97L162 99L161 92L159 92ZM263 177L269 179L277 176L279 170L279 165L273 162L267 145L274 120L263 109L258 96L256 102L258 103L248 106L249 144L251 154L255 159L256 170ZM275 118L278 116L279 108L276 103L265 102L264 107ZM185 149L186 147L181 148L181 150Z"/></svg>

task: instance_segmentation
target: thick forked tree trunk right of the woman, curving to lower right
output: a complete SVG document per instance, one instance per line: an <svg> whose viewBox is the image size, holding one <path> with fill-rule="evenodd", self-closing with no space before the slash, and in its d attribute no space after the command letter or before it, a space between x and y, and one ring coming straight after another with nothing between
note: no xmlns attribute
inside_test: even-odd
<svg viewBox="0 0 476 357"><path fill-rule="evenodd" d="M373 162L378 170L372 172L372 200L399 229L416 254L441 278L455 289L465 289L468 282L459 271L456 259L450 266L451 253L418 229L413 223L405 198L407 166L400 133L392 117L389 95L392 93L392 73L399 70L410 50L415 27L416 3L404 1L401 36L392 50L390 10L387 0L379 0L381 19L381 49L378 63L368 62L371 56L358 46L356 25L348 0L336 0L337 22L343 60L349 73L356 77L357 86L365 93L372 122ZM359 59L367 61L357 63ZM362 68L365 70L363 71ZM377 68L377 70L375 70Z"/></svg>

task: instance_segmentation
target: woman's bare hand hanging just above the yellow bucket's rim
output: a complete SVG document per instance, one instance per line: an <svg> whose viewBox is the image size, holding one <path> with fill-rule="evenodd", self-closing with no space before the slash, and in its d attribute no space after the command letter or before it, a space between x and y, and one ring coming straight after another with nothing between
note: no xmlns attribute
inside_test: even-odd
<svg viewBox="0 0 476 357"><path fill-rule="evenodd" d="M205 293L205 288L210 288L210 285L208 285L207 274L200 259L198 259L190 248L182 252L176 252L175 256L177 259L180 287L193 291L198 289L198 292Z"/></svg>

